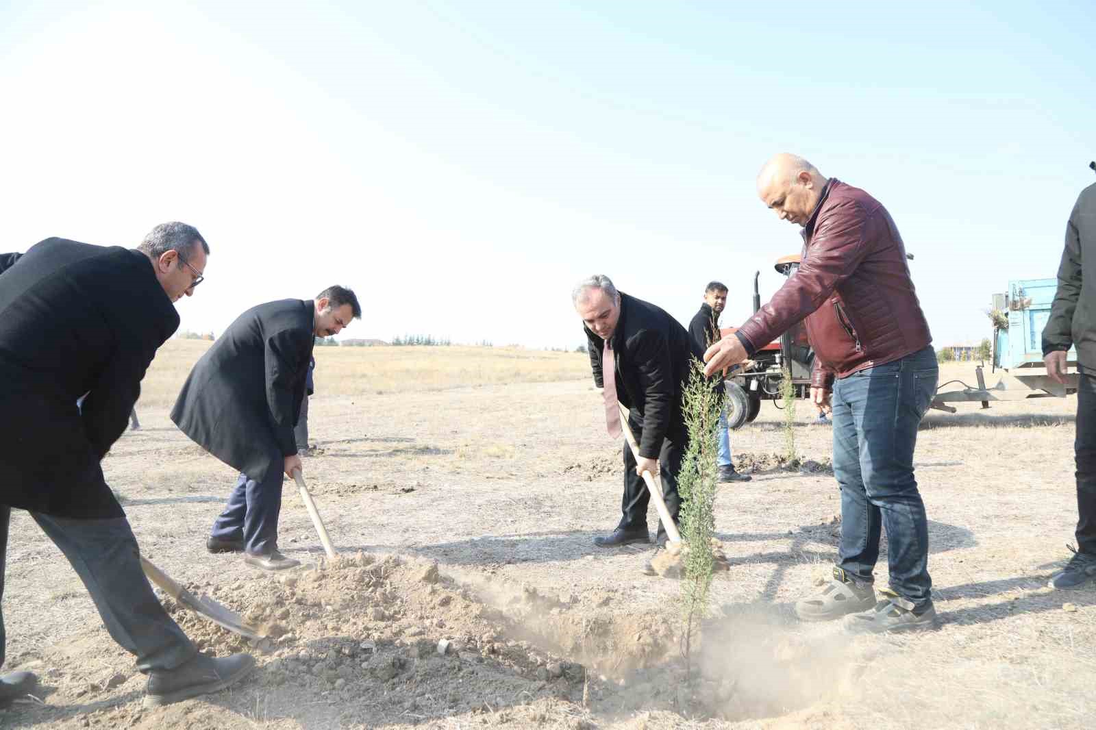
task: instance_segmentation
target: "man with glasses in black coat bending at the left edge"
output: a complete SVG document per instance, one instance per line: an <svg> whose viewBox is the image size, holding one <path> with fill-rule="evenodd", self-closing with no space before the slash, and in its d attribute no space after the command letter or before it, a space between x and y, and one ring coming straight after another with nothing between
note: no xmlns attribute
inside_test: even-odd
<svg viewBox="0 0 1096 730"><path fill-rule="evenodd" d="M173 303L202 282L207 253L196 229L170 223L135 251L50 238L22 256L0 255L0 594L11 510L26 510L88 588L111 637L137 657L153 705L220 689L254 665L247 654L198 654L171 620L100 467L157 349L179 327ZM0 615L0 663L3 640ZM0 677L0 703L34 682Z"/></svg>

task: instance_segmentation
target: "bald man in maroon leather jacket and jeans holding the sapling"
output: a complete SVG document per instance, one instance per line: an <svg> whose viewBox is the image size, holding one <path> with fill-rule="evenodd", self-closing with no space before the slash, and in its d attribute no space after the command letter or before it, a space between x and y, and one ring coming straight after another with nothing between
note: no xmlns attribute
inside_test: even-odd
<svg viewBox="0 0 1096 730"><path fill-rule="evenodd" d="M820 407L832 399L842 538L833 581L800 601L796 613L804 620L856 613L850 626L871 631L934 627L927 518L913 450L938 369L902 238L878 201L794 155L765 164L757 193L781 220L802 227L802 265L705 361L708 374L743 362L807 320L815 352L811 398ZM876 604L882 525L890 590Z"/></svg>

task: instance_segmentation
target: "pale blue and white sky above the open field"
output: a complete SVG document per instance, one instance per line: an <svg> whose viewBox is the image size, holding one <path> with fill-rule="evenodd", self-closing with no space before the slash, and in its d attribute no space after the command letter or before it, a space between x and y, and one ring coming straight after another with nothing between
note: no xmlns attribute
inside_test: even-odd
<svg viewBox="0 0 1096 730"><path fill-rule="evenodd" d="M343 337L568 346L608 274L724 326L798 252L774 152L894 217L938 346L1052 277L1096 182L1089 2L0 0L0 251L196 226L181 329L357 292ZM119 293L124 296L125 293Z"/></svg>

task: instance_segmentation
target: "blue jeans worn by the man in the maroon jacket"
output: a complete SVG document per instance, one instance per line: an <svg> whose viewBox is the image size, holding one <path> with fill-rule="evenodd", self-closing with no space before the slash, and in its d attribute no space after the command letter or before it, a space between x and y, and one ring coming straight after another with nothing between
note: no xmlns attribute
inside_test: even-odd
<svg viewBox="0 0 1096 730"><path fill-rule="evenodd" d="M841 486L837 566L872 583L880 527L887 527L890 586L921 606L931 601L928 520L913 477L917 425L936 393L936 352L841 378L833 388L833 472Z"/></svg>

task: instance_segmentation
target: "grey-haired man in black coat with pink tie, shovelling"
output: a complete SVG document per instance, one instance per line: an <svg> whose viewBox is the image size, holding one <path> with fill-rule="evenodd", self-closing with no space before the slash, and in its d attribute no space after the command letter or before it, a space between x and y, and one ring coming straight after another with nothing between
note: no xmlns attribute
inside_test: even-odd
<svg viewBox="0 0 1096 730"><path fill-rule="evenodd" d="M648 543L650 495L641 475L660 474L663 499L676 523L681 506L677 474L688 447L682 391L688 378L689 358L699 358L704 351L689 340L677 320L652 304L617 292L608 276L583 280L571 298L589 341L594 385L605 391L609 433L619 435L619 423L614 424L619 400L628 408L628 425L639 444L638 455L632 455L627 443L624 446L620 522L610 535L595 537L594 544L613 547ZM606 362L606 355L612 362ZM615 390L615 396L610 390ZM665 541L661 524L657 541Z"/></svg>

